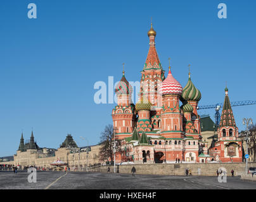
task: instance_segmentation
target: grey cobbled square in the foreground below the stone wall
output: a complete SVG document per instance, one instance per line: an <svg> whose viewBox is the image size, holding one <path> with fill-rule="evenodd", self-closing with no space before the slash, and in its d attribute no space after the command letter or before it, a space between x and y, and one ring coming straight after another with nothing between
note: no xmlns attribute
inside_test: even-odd
<svg viewBox="0 0 256 202"><path fill-rule="evenodd" d="M227 177L107 174L97 172L37 172L37 182L28 182L30 173L0 172L0 189L256 189L256 182Z"/></svg>

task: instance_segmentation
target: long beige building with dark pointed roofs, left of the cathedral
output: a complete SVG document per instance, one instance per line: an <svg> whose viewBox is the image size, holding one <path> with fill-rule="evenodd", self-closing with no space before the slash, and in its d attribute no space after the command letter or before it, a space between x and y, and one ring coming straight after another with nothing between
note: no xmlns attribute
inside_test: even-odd
<svg viewBox="0 0 256 202"><path fill-rule="evenodd" d="M66 162L71 170L86 170L87 168L101 164L101 162L99 162L100 148L100 145L79 148L71 134L67 135L58 150L46 147L40 148L34 140L32 131L30 140L25 143L22 133L18 150L16 154L13 155L13 161L0 162L0 165L15 165L22 169L30 166L53 169L54 166L50 164L56 160L60 160Z"/></svg>

